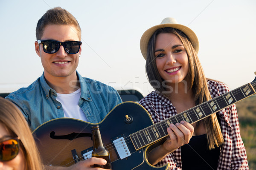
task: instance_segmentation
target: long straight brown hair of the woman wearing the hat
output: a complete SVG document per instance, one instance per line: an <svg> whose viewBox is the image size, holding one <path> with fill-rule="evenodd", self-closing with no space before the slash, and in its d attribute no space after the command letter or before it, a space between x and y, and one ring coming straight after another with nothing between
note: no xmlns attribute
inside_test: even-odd
<svg viewBox="0 0 256 170"><path fill-rule="evenodd" d="M189 60L189 71L185 79L189 82L188 90L191 89L193 91L195 104L199 105L211 99L207 86L207 79L204 76L203 68L189 38L182 31L175 28L166 27L157 29L148 42L146 74L152 87L166 97L169 96L169 94L166 93L166 87L163 85L164 79L160 77L160 74L157 71L154 55L156 38L160 33L175 34L184 45ZM199 125L199 123L204 123L204 127L206 128L209 149L213 149L215 146L219 147L224 142L216 114L212 114L197 122L197 125Z"/></svg>

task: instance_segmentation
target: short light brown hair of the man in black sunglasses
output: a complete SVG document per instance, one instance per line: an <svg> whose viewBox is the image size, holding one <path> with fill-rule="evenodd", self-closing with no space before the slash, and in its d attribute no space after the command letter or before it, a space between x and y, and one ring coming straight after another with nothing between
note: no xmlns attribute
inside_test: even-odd
<svg viewBox="0 0 256 170"><path fill-rule="evenodd" d="M61 7L49 9L39 20L35 29L37 40L41 40L44 34L44 28L47 25L70 25L75 26L79 41L81 41L81 28L76 18L69 11Z"/></svg>

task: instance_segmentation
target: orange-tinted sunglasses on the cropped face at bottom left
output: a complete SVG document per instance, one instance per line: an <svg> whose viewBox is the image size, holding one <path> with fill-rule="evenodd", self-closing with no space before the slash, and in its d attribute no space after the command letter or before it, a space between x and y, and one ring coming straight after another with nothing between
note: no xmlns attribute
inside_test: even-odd
<svg viewBox="0 0 256 170"><path fill-rule="evenodd" d="M19 137L0 139L0 161L10 161L19 153Z"/></svg>

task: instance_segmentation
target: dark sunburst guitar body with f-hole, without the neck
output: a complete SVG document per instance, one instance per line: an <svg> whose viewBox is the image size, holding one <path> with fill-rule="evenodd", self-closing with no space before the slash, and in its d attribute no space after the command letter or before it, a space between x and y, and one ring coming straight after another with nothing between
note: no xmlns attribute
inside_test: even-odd
<svg viewBox="0 0 256 170"><path fill-rule="evenodd" d="M130 121L127 121L126 115ZM66 166L75 164L72 150L76 150L79 161L81 152L86 153L93 147L91 126L99 125L102 141L110 152L113 170L169 170L169 164L154 167L148 163L147 155L151 147L135 150L129 135L153 125L148 112L135 102L123 102L108 113L98 124L78 119L58 118L40 125L33 131L35 141L45 165ZM120 159L113 140L124 137L131 156ZM147 152L145 152L147 150Z"/></svg>

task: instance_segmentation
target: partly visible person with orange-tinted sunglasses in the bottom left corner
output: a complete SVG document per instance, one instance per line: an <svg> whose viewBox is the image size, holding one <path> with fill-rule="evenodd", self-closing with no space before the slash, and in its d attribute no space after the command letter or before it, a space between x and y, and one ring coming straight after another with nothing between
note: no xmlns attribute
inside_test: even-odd
<svg viewBox="0 0 256 170"><path fill-rule="evenodd" d="M41 170L29 126L16 106L0 97L0 170Z"/></svg>

